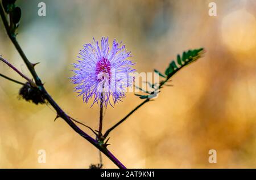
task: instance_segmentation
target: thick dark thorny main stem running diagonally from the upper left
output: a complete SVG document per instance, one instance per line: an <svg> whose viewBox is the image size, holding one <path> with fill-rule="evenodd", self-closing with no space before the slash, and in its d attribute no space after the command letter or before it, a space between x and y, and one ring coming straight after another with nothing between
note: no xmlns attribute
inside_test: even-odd
<svg viewBox="0 0 256 180"><path fill-rule="evenodd" d="M10 31L9 28L9 24L7 22L6 16L5 16L5 12L3 11L3 7L2 5L0 5L0 15L3 21L3 25L5 26L6 32L10 38L10 40L13 42L16 50L18 51L18 53L20 54L20 56L22 57L24 63L26 64L28 70L30 71L30 73L32 74L33 78L35 79L35 83L38 86L40 92L42 93L42 95L47 99L47 101L49 102L49 104L52 105L52 107L56 110L57 115L59 115L59 117L63 118L65 122L68 123L68 125L74 130L76 131L79 135L81 135L83 138L85 138L86 140L88 140L88 142L90 142L91 144L94 145L94 147L98 148L101 152L103 152L110 160L112 160L114 162L115 165L118 166L118 168L121 169L126 169L126 167L108 150L106 149L106 147L102 146L101 144L99 144L97 142L96 139L93 139L91 136L89 136L88 134L86 134L84 131L82 131L73 121L71 118L69 118L69 116L60 108L59 105L57 105L57 103L53 100L53 98L49 95L49 93L46 91L46 89L43 86L42 81L40 80L39 76L36 74L35 71L35 64L32 64L30 61L28 61L28 58L26 57L26 55L24 54L22 48L20 48L20 45L18 43L18 41L16 41L16 37L15 35L13 35Z"/></svg>

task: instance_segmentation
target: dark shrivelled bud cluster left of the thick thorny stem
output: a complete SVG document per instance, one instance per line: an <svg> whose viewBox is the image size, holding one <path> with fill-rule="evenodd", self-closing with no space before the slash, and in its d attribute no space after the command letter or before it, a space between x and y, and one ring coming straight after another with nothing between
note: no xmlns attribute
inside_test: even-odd
<svg viewBox="0 0 256 180"><path fill-rule="evenodd" d="M19 89L19 96L28 102L34 102L36 105L46 103L46 99L41 95L39 89L32 87L28 82Z"/></svg>

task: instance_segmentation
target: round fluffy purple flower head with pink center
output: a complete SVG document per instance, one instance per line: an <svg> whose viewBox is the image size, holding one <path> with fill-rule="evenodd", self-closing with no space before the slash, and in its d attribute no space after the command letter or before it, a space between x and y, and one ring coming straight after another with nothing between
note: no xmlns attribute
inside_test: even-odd
<svg viewBox="0 0 256 180"><path fill-rule="evenodd" d="M102 100L105 106L112 106L110 100L114 104L121 101L127 87L133 85L134 63L127 59L131 52L121 44L114 40L110 49L108 37L101 38L101 45L93 38L92 43L85 44L80 50L78 63L73 64L77 70L73 71L75 75L71 80L76 84L74 91L84 102L94 98L93 104Z"/></svg>

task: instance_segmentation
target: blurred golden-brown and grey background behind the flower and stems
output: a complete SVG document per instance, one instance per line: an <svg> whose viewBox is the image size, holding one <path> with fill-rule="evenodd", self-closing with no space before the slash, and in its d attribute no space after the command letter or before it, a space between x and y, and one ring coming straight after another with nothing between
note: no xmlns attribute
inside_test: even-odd
<svg viewBox="0 0 256 180"><path fill-rule="evenodd" d="M98 107L76 97L71 63L82 45L109 36L125 42L138 72L164 71L183 50L207 53L172 78L159 97L110 134L128 168L256 168L256 2L246 0L17 1L18 41L45 87L72 117L98 127ZM216 2L217 16L208 4ZM30 75L0 24L0 54ZM23 81L0 64L0 72ZM0 79L0 168L88 168L98 151L55 118L50 106L18 100L20 85ZM142 100L128 93L109 107L104 130ZM83 128L83 127L82 127ZM92 135L87 129L84 129ZM38 163L39 149L46 164ZM216 149L217 164L208 151ZM104 168L116 166L103 156Z"/></svg>

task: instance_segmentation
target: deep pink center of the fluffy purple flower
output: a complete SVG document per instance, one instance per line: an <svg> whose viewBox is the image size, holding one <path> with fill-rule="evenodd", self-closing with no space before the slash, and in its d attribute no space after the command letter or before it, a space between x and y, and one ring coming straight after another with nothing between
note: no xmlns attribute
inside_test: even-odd
<svg viewBox="0 0 256 180"><path fill-rule="evenodd" d="M110 81L110 62L109 59L102 57L100 61L96 63L96 74L98 80L108 80Z"/></svg>

